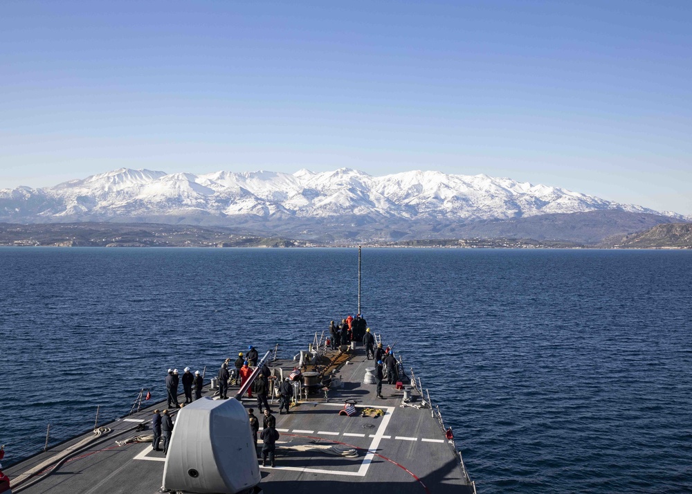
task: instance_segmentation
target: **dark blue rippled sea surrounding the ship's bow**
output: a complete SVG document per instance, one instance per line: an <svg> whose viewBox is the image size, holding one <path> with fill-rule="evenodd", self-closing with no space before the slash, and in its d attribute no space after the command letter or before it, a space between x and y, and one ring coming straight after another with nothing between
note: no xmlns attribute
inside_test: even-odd
<svg viewBox="0 0 692 494"><path fill-rule="evenodd" d="M0 248L15 462L163 399L168 367L292 355L357 308L357 249ZM692 252L363 250L361 308L480 493L692 492Z"/></svg>

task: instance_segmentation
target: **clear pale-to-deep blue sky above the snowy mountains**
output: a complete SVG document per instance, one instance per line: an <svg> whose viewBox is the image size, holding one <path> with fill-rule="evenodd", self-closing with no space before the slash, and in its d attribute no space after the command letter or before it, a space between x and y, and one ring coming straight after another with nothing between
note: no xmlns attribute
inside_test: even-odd
<svg viewBox="0 0 692 494"><path fill-rule="evenodd" d="M0 3L0 188L509 176L692 214L692 1Z"/></svg>

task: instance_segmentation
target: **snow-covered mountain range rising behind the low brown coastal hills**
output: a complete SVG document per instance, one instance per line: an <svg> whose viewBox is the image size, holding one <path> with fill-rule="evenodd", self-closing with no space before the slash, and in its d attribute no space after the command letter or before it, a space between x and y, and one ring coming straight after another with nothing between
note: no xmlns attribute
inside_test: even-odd
<svg viewBox="0 0 692 494"><path fill-rule="evenodd" d="M615 210L682 219L558 187L486 175L403 172L370 176L341 168L314 173L166 174L122 168L54 187L0 190L0 221L158 221L237 225L309 220L367 225L462 224L540 214ZM295 223L297 224L297 223ZM315 223L316 224L316 223ZM317 228L318 229L318 228Z"/></svg>

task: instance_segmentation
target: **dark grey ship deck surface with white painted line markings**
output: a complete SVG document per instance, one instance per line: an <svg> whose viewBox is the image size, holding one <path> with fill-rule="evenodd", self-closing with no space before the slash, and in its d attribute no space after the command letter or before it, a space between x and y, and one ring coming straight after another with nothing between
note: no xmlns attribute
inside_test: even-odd
<svg viewBox="0 0 692 494"><path fill-rule="evenodd" d="M446 437L439 409L430 404L419 379L408 376L412 385L412 390L406 390L410 392L408 403L403 403L404 390L386 383L382 386L384 399L379 399L376 385L363 383L366 369L374 367L365 349L349 348L345 355L327 349L325 356L334 360L330 375L336 383L340 378L341 385L330 388L327 396L324 389L296 396L290 414L278 414L277 400L270 402L281 437L276 445L276 466L260 467L260 488L265 493L350 494L383 489L411 494L475 493L454 439ZM275 373L282 369L284 375L295 365L294 360L269 363ZM310 370L308 365L304 372ZM230 386L229 396L237 390ZM213 394L205 385L203 396ZM356 403L358 414L353 417L338 413L347 400ZM242 403L246 409L255 409L261 424L255 398L244 396ZM154 451L150 439L124 441L152 434L152 411L163 410L165 405L165 401L156 403L102 426L102 431L109 431L100 436L84 434L6 468L12 493L159 492L163 452ZM365 408L382 410L383 415L361 417ZM260 440L258 449L261 444ZM357 454L340 454L347 450Z"/></svg>

